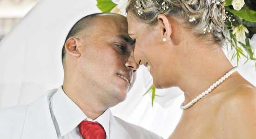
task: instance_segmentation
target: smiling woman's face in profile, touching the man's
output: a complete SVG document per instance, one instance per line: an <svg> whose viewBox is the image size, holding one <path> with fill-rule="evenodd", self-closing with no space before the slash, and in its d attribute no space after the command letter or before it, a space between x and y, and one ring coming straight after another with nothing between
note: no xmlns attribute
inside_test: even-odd
<svg viewBox="0 0 256 139"><path fill-rule="evenodd" d="M162 25L149 26L138 22L132 14L127 15L129 36L136 40L135 61L150 66L153 84L156 88L170 87L173 55L167 42L163 41ZM171 66L170 66L171 65Z"/></svg>

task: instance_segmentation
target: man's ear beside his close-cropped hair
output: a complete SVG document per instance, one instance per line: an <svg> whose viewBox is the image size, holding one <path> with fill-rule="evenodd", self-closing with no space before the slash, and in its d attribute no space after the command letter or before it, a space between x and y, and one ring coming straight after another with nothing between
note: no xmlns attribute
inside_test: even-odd
<svg viewBox="0 0 256 139"><path fill-rule="evenodd" d="M78 49L80 40L78 38L70 37L65 43L66 52L74 57L80 57L81 53Z"/></svg>

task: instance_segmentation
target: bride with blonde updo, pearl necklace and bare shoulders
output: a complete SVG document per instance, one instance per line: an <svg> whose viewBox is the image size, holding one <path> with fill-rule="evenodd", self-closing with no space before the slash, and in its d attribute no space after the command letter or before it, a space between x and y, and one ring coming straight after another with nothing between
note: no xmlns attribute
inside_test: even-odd
<svg viewBox="0 0 256 139"><path fill-rule="evenodd" d="M126 11L136 62L148 67L156 88L184 92L170 139L256 139L256 88L221 48L223 2L128 0Z"/></svg>

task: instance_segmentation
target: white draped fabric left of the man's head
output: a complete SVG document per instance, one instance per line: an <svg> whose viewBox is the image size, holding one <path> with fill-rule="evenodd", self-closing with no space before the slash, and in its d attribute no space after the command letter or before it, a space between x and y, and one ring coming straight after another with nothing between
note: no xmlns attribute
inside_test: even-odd
<svg viewBox="0 0 256 139"><path fill-rule="evenodd" d="M58 88L67 33L77 20L99 12L94 0L40 0L0 42L0 106L28 103Z"/></svg>

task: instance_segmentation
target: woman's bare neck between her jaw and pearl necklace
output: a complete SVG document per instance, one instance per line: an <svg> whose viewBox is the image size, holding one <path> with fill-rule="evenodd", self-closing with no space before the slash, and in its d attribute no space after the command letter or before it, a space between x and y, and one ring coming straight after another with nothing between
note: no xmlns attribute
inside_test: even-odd
<svg viewBox="0 0 256 139"><path fill-rule="evenodd" d="M184 92L185 104L207 90L210 85L233 68L221 47L201 48L201 51L194 52L194 54L193 51L191 52L191 58L188 58L188 62L182 67L182 74L177 84Z"/></svg>

